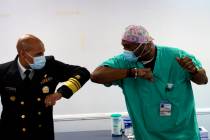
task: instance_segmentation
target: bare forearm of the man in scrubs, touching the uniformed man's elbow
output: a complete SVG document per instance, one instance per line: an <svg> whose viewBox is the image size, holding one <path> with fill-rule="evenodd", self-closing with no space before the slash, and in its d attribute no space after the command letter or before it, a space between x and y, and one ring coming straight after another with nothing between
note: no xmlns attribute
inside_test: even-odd
<svg viewBox="0 0 210 140"><path fill-rule="evenodd" d="M126 78L127 75L128 69L114 69L100 66L92 72L91 81L100 84L107 84L112 81Z"/></svg>

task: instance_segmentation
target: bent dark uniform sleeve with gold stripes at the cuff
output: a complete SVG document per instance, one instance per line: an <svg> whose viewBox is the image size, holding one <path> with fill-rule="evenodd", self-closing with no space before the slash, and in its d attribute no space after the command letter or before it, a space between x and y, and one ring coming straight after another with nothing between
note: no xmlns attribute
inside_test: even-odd
<svg viewBox="0 0 210 140"><path fill-rule="evenodd" d="M90 72L85 67L69 65L54 58L51 59L50 65L55 68L59 82L64 82L64 85L57 90L64 98L70 98L90 79Z"/></svg>

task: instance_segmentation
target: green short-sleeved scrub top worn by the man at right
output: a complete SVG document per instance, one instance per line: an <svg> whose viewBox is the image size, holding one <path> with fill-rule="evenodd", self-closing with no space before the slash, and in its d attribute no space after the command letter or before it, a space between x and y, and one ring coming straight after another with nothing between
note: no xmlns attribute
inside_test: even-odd
<svg viewBox="0 0 210 140"><path fill-rule="evenodd" d="M201 63L193 55L171 47L156 46L157 57L153 70L154 81L124 78L112 85L121 87L136 140L199 140L195 103L190 74L176 57L190 57L196 67ZM128 62L123 54L103 62L112 68L144 68L141 62ZM166 90L168 83L173 88ZM171 115L160 116L160 103L171 104Z"/></svg>

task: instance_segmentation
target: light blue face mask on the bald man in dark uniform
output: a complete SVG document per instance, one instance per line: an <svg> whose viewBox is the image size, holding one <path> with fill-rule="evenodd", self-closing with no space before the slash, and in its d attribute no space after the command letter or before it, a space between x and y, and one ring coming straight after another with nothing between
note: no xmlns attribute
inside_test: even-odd
<svg viewBox="0 0 210 140"><path fill-rule="evenodd" d="M27 53L28 54L28 53ZM28 54L30 57L32 57L30 54ZM45 56L36 56L36 57L32 57L34 63L33 64L29 64L29 66L34 69L34 70L39 70L42 69L45 64L46 64L46 58Z"/></svg>

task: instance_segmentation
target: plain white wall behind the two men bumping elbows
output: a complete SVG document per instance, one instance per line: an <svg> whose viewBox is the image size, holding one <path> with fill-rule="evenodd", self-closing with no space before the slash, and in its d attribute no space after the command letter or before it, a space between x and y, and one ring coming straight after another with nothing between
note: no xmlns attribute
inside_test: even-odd
<svg viewBox="0 0 210 140"><path fill-rule="evenodd" d="M124 28L145 26L156 44L195 54L210 71L209 0L0 0L0 63L16 55L24 33L40 37L46 54L92 71L122 52ZM210 106L210 85L193 84L196 107ZM70 100L62 99L55 114L126 111L117 87L90 81Z"/></svg>

